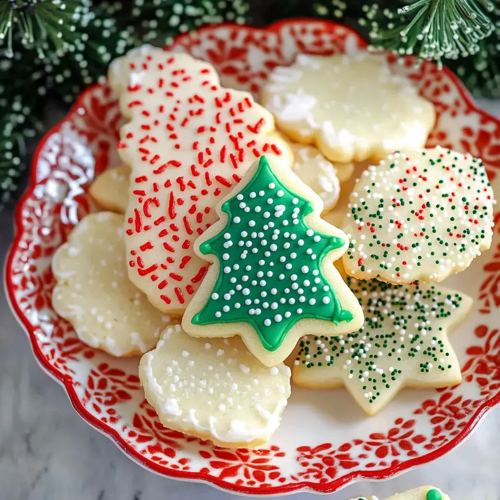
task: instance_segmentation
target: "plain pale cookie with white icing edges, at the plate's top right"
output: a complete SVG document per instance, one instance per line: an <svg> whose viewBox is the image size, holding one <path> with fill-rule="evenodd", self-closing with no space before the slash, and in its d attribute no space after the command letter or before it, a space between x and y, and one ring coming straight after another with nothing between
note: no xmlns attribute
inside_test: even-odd
<svg viewBox="0 0 500 500"><path fill-rule="evenodd" d="M289 137L340 162L422 147L435 119L411 82L392 73L384 55L367 51L299 54L271 71L262 103Z"/></svg>

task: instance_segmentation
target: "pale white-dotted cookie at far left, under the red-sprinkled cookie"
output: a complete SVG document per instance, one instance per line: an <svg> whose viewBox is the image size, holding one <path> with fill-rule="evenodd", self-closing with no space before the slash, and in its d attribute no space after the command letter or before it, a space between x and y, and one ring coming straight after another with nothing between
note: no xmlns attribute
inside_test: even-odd
<svg viewBox="0 0 500 500"><path fill-rule="evenodd" d="M91 213L71 231L52 259L54 310L78 338L114 356L152 349L172 322L127 277L123 215Z"/></svg>

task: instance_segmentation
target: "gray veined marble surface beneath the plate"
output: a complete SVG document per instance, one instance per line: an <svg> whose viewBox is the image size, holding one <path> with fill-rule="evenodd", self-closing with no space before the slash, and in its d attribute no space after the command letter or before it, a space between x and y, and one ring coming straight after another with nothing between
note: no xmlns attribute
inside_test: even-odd
<svg viewBox="0 0 500 500"><path fill-rule="evenodd" d="M481 102L500 116L500 101ZM12 212L0 213L0 258L12 238ZM3 269L2 269L3 273ZM3 281L3 276L2 276ZM438 460L381 482L357 482L329 496L384 498L433 484L452 500L500 498L500 407ZM64 390L37 365L28 339L0 296L0 500L229 500L210 486L165 479L142 469L89 427ZM314 495L299 493L297 500Z"/></svg>

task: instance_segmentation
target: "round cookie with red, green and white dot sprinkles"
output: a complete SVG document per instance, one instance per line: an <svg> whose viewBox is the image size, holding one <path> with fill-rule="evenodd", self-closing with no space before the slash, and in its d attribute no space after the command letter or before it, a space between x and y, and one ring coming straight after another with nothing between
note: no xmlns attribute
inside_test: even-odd
<svg viewBox="0 0 500 500"><path fill-rule="evenodd" d="M345 270L389 283L442 281L489 248L493 203L480 159L439 146L395 151L351 192Z"/></svg>

